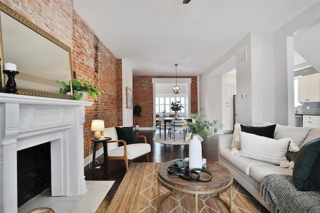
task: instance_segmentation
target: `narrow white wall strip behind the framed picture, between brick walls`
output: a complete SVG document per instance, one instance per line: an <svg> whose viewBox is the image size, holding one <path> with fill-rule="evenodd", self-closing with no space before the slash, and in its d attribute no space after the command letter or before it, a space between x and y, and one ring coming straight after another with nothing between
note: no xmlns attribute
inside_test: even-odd
<svg viewBox="0 0 320 213"><path fill-rule="evenodd" d="M122 125L129 127L133 125L133 113L126 108L126 87L132 89L132 69L122 59Z"/></svg>

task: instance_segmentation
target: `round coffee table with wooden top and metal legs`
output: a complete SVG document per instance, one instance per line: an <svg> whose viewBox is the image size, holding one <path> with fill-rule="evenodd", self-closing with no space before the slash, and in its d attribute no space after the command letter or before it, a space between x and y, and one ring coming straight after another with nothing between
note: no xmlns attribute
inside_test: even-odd
<svg viewBox="0 0 320 213"><path fill-rule="evenodd" d="M158 193L158 212L160 212L160 207L162 201L175 191L181 193L192 194L195 196L195 212L198 213L198 195L209 195L209 196L218 196L218 199L221 200L221 193L229 190L230 194L230 212L232 213L232 183L233 177L231 173L223 166L216 162L207 161L206 169L212 173L212 180L208 182L200 181L186 181L179 178L177 175L169 175L167 173L168 166L174 164L174 161L168 161L161 165L157 174L157 193ZM200 175L205 175L204 172L201 172ZM166 195L160 199L160 187L164 186L172 190L172 193ZM211 195L213 194L213 195ZM222 200L221 200L222 201ZM224 201L222 201L223 204Z"/></svg>

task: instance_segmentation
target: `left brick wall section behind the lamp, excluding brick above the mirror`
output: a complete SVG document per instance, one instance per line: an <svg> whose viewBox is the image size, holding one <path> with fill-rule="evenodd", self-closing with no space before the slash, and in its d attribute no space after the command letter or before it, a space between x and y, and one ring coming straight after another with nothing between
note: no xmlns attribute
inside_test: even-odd
<svg viewBox="0 0 320 213"><path fill-rule="evenodd" d="M85 107L83 124L84 158L89 155L91 121L104 120L105 127L117 126L117 60L74 12L72 68L77 78L93 81L104 93L92 106ZM92 153L92 144L90 147Z"/></svg>

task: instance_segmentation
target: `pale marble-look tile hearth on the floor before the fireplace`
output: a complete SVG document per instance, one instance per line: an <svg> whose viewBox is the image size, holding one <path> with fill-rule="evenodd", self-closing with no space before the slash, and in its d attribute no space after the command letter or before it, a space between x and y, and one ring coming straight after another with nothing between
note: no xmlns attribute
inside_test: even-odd
<svg viewBox="0 0 320 213"><path fill-rule="evenodd" d="M85 181L87 192L82 196L51 197L46 191L18 208L25 213L38 207L49 207L54 213L95 213L114 181Z"/></svg>

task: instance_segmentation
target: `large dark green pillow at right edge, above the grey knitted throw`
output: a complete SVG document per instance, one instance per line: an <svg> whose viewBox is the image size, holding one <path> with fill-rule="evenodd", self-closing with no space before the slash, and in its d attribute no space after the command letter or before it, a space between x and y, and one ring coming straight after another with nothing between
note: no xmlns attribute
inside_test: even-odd
<svg viewBox="0 0 320 213"><path fill-rule="evenodd" d="M320 189L320 138L300 148L295 157L292 179L298 191Z"/></svg>

